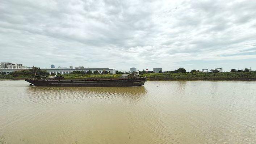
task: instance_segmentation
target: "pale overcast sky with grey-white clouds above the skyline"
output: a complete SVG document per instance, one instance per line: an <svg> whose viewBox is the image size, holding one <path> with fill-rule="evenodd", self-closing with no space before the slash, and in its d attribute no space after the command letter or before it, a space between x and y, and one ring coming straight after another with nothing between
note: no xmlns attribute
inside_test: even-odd
<svg viewBox="0 0 256 144"><path fill-rule="evenodd" d="M256 1L1 0L0 61L256 69Z"/></svg>

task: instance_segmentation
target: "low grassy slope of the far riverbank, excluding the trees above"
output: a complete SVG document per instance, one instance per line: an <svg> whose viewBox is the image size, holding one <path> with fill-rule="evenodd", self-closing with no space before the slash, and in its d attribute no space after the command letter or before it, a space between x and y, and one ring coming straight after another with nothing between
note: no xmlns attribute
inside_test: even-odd
<svg viewBox="0 0 256 144"><path fill-rule="evenodd" d="M85 79L85 78L114 78L121 77L122 74L115 75L61 75L65 79ZM31 75L0 75L0 80L25 80ZM140 76L147 76L148 80L256 80L256 72L222 72L222 73L146 73Z"/></svg>

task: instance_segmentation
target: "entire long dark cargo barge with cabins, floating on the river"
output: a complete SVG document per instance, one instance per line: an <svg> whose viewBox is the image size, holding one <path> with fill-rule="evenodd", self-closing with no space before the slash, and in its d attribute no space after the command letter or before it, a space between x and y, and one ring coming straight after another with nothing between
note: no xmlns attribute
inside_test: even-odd
<svg viewBox="0 0 256 144"><path fill-rule="evenodd" d="M64 79L62 76L47 78L46 76L31 76L25 81L34 86L142 86L147 77L139 77L138 72L123 75L117 78L87 78L87 79Z"/></svg>

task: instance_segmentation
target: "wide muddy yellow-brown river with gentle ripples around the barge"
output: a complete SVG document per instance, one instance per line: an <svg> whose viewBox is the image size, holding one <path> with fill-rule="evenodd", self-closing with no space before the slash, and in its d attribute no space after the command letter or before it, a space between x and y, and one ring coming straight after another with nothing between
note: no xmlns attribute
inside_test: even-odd
<svg viewBox="0 0 256 144"><path fill-rule="evenodd" d="M256 143L256 81L0 81L0 136L11 144Z"/></svg>

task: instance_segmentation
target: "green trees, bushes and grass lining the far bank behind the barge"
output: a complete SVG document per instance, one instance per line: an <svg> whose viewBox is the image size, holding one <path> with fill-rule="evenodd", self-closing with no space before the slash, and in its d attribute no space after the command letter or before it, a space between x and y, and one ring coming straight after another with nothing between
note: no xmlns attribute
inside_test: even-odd
<svg viewBox="0 0 256 144"><path fill-rule="evenodd" d="M244 70L232 69L230 72L219 72L217 69L211 69L209 73L199 72L193 69L190 72L186 72L186 69L179 68L174 71L166 71L164 73L154 73L152 71L146 72L140 71L140 76L147 76L148 80L256 80L256 71L250 71L245 68ZM114 78L121 77L121 72L118 74L109 74L107 71L99 74L98 71L73 71L68 75L61 75L65 79L85 79L85 78ZM0 80L24 80L29 79L31 75L45 75L49 76L47 71L43 71L40 68L32 67L28 70L14 71L10 75L4 75L1 73ZM54 73L52 73L55 75Z"/></svg>

